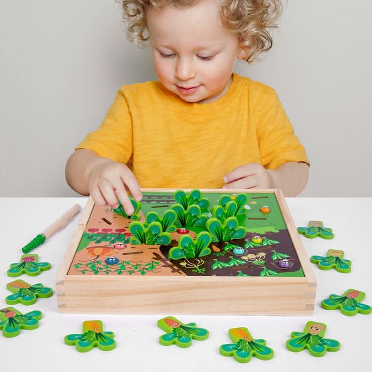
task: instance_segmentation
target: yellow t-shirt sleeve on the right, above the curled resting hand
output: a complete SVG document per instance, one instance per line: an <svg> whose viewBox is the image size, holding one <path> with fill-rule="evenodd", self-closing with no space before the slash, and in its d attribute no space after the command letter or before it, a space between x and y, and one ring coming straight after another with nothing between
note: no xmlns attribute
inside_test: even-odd
<svg viewBox="0 0 372 372"><path fill-rule="evenodd" d="M293 131L282 104L274 90L261 102L257 137L261 164L276 169L286 162L304 162L310 165L305 149Z"/></svg>

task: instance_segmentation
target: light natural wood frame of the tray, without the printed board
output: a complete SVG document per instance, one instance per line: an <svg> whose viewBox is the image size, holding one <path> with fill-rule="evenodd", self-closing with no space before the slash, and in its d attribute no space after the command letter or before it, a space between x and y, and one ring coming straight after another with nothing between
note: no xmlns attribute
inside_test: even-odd
<svg viewBox="0 0 372 372"><path fill-rule="evenodd" d="M58 311L102 314L312 315L316 278L281 190L200 191L225 194L274 193L305 277L67 275L94 206L93 200L89 198L56 277Z"/></svg>

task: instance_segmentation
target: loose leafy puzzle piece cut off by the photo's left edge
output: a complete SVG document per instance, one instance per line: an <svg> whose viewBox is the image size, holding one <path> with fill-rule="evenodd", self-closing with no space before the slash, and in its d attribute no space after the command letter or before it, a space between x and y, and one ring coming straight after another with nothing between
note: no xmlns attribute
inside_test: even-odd
<svg viewBox="0 0 372 372"><path fill-rule="evenodd" d="M39 320L43 317L40 311L31 311L22 314L15 308L9 306L0 310L0 330L4 337L15 337L21 329L36 329L39 327Z"/></svg>

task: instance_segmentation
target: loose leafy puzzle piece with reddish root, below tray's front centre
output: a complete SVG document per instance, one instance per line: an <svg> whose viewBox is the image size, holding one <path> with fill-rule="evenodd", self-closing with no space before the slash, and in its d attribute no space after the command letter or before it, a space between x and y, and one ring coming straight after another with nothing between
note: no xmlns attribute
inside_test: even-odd
<svg viewBox="0 0 372 372"><path fill-rule="evenodd" d="M183 324L173 316L158 320L158 327L167 332L159 337L160 344L164 346L175 344L181 348L188 348L192 339L203 341L209 337L209 331L197 328L196 323Z"/></svg>

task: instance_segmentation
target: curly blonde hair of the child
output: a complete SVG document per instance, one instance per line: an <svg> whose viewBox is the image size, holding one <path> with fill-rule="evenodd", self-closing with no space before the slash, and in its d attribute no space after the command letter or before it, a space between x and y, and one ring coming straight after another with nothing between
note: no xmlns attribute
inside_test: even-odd
<svg viewBox="0 0 372 372"><path fill-rule="evenodd" d="M146 23L146 8L168 5L187 7L202 0L121 0L124 22L128 24L128 40L144 45L150 35ZM239 52L248 62L253 62L262 52L272 47L269 29L277 27L282 12L281 0L221 0L222 25L238 36Z"/></svg>

